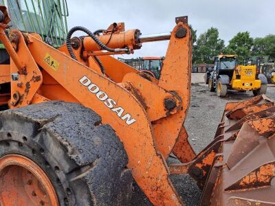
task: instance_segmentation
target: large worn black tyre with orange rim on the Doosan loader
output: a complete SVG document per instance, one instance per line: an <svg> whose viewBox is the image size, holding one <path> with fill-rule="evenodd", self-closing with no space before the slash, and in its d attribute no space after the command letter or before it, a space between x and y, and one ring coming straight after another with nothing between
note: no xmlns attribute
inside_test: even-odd
<svg viewBox="0 0 275 206"><path fill-rule="evenodd" d="M0 205L127 205L127 161L111 126L80 104L0 113Z"/></svg>

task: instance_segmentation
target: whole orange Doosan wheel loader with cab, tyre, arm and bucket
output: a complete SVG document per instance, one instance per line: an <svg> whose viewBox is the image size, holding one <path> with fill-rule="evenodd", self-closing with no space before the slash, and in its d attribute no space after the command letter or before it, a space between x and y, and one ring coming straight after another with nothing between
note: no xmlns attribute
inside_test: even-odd
<svg viewBox="0 0 275 206"><path fill-rule="evenodd" d="M129 205L133 179L153 205L184 205L173 174L197 181L201 205L275 204L275 107L265 95L228 103L199 154L188 143L187 16L164 34L124 23L66 32L66 8L0 6L0 205ZM159 80L111 57L161 40L169 45ZM181 163L168 165L171 153Z"/></svg>

